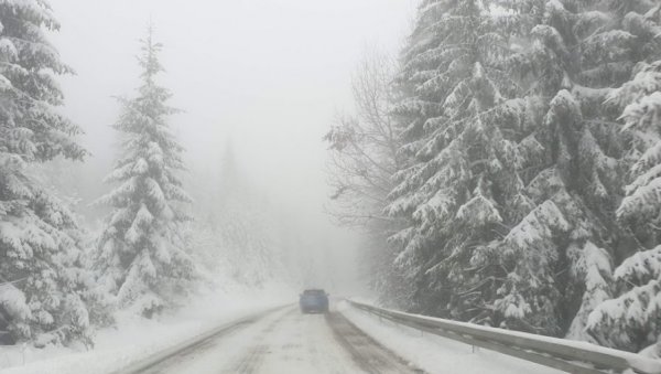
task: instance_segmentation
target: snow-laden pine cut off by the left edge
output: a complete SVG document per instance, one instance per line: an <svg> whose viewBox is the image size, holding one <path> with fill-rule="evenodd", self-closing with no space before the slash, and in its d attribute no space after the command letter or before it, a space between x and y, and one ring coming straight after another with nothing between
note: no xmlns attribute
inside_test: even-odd
<svg viewBox="0 0 661 374"><path fill-rule="evenodd" d="M37 345L89 340L80 229L29 171L86 154L56 110L56 76L72 72L45 34L58 28L44 0L0 2L0 311L14 339Z"/></svg>

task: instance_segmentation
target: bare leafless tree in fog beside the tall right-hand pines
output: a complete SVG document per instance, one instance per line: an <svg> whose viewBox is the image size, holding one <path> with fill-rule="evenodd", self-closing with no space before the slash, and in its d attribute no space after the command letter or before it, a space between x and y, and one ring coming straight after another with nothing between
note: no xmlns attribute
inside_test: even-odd
<svg viewBox="0 0 661 374"><path fill-rule="evenodd" d="M366 234L364 273L372 289L389 295L391 301L403 301L394 295L404 299L409 291L391 266L394 249L387 241L401 223L383 213L399 169L399 133L391 116L395 70L394 58L376 49L368 51L351 78L356 113L338 116L324 140L334 189L329 212L340 224Z"/></svg>

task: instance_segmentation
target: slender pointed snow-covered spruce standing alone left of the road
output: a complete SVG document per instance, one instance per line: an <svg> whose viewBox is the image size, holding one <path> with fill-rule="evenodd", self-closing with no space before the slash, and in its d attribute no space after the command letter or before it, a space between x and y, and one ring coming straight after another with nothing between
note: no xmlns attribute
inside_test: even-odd
<svg viewBox="0 0 661 374"><path fill-rule="evenodd" d="M122 140L121 157L107 182L117 188L99 202L112 207L97 243L96 268L118 308L152 317L172 306L194 278L181 225L191 199L177 177L183 148L172 135L166 105L170 92L156 83L163 71L150 26L139 56L142 84L138 96L121 98L115 124Z"/></svg>

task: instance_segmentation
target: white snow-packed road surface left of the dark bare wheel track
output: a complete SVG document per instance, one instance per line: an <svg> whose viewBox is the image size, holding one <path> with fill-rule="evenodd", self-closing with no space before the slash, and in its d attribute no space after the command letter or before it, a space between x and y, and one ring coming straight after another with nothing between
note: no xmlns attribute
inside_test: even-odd
<svg viewBox="0 0 661 374"><path fill-rule="evenodd" d="M145 374L359 373L323 314L288 308Z"/></svg>

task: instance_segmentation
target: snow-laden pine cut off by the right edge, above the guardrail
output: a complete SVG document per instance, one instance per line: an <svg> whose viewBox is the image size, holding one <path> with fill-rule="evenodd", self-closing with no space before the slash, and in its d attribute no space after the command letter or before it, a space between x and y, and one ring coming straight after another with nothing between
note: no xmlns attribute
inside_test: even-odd
<svg viewBox="0 0 661 374"><path fill-rule="evenodd" d="M652 63L639 63L633 78L614 90L608 104L621 110L624 131L632 133L632 157L626 196L618 218L633 233L637 249L615 270L616 298L599 304L587 329L600 343L638 352L661 336L661 4L625 15L631 31L652 51ZM653 47L655 45L655 47ZM637 248L636 248L637 247Z"/></svg>

